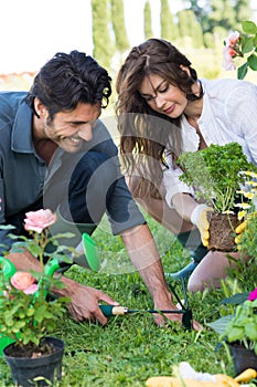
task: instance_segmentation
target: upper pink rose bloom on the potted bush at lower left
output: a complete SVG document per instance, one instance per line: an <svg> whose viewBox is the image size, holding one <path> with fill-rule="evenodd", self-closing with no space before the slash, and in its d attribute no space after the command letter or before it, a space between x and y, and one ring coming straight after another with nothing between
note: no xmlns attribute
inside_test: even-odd
<svg viewBox="0 0 257 387"><path fill-rule="evenodd" d="M51 210L30 211L25 213L24 229L26 231L36 231L41 233L46 227L53 224L57 220L57 216Z"/></svg>

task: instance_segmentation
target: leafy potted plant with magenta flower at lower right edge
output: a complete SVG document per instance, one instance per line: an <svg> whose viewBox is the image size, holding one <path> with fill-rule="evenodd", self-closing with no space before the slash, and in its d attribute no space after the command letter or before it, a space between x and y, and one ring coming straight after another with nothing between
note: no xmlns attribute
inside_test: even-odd
<svg viewBox="0 0 257 387"><path fill-rule="evenodd" d="M219 339L228 345L237 374L247 368L257 370L257 287L247 295L235 294L223 300L223 303L238 301L242 302L235 307L234 314L208 324L219 334Z"/></svg>

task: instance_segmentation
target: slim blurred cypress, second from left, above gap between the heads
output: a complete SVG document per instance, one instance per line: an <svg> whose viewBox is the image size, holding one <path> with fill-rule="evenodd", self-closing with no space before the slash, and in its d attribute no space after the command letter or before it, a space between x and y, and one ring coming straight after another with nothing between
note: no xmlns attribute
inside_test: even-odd
<svg viewBox="0 0 257 387"><path fill-rule="evenodd" d="M124 21L124 2L122 0L110 0L110 4L116 49L120 52L125 52L129 48L129 41Z"/></svg>

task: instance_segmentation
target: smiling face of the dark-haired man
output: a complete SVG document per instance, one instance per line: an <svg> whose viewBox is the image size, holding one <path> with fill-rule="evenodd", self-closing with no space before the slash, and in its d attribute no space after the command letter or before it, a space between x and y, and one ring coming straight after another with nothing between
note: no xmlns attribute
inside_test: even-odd
<svg viewBox="0 0 257 387"><path fill-rule="evenodd" d="M81 150L83 142L89 142L96 119L100 116L100 104L79 103L74 111L56 113L43 126L44 138L53 140L68 153Z"/></svg>

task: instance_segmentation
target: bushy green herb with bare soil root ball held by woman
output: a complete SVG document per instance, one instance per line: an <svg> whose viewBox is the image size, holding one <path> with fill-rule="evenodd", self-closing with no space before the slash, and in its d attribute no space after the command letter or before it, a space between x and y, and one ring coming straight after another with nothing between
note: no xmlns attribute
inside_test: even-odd
<svg viewBox="0 0 257 387"><path fill-rule="evenodd" d="M242 171L256 170L248 163L238 143L214 145L185 151L178 163L183 169L182 181L195 189L197 200L213 208L210 215L210 250L235 250L235 229L239 224L235 205L240 201Z"/></svg>

